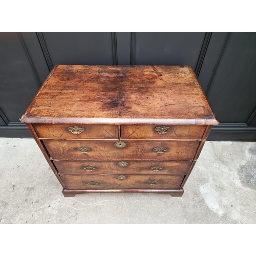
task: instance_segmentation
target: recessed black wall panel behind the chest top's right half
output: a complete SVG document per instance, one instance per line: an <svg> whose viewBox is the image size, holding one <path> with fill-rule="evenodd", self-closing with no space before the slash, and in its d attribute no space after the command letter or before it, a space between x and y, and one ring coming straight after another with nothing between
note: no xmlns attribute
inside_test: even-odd
<svg viewBox="0 0 256 256"><path fill-rule="evenodd" d="M196 68L205 32L136 32L135 65Z"/></svg>

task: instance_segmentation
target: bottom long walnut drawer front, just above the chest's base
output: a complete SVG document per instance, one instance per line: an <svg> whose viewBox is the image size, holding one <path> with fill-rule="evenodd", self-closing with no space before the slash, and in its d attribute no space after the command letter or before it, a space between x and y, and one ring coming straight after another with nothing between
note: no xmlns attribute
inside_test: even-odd
<svg viewBox="0 0 256 256"><path fill-rule="evenodd" d="M60 175L67 189L178 189L184 175Z"/></svg>

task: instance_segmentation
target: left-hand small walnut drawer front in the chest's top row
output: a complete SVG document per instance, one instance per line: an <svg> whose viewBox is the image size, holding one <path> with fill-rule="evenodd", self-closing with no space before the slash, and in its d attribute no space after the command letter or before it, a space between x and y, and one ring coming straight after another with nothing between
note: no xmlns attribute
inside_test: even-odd
<svg viewBox="0 0 256 256"><path fill-rule="evenodd" d="M117 125L103 124L34 124L39 138L49 139L118 139Z"/></svg>

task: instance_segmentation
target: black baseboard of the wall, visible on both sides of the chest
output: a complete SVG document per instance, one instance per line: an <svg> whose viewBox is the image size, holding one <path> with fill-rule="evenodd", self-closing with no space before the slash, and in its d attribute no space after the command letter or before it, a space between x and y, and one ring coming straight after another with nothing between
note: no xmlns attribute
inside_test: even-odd
<svg viewBox="0 0 256 256"><path fill-rule="evenodd" d="M10 122L0 126L0 137L32 138L26 124ZM220 123L212 126L208 141L256 141L256 127L246 123Z"/></svg>

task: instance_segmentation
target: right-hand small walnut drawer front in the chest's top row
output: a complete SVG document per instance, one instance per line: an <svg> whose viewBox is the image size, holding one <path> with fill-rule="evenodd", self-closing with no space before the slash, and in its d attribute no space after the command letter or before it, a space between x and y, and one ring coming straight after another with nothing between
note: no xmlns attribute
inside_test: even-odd
<svg viewBox="0 0 256 256"><path fill-rule="evenodd" d="M121 139L201 139L205 125L121 125Z"/></svg>

